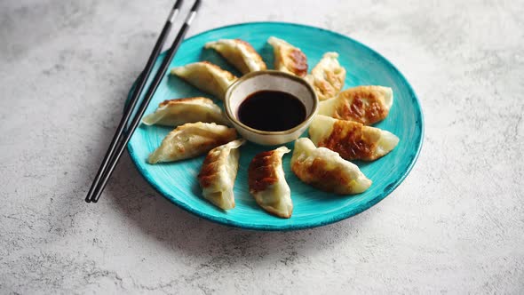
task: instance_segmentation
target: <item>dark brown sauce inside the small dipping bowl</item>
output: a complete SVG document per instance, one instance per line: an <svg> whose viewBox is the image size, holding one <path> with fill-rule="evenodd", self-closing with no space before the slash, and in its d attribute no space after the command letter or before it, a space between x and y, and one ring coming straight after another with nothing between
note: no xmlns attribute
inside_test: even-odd
<svg viewBox="0 0 524 295"><path fill-rule="evenodd" d="M306 120L306 107L290 93L265 90L242 101L238 119L253 129L283 132Z"/></svg>

